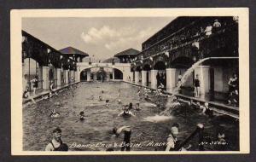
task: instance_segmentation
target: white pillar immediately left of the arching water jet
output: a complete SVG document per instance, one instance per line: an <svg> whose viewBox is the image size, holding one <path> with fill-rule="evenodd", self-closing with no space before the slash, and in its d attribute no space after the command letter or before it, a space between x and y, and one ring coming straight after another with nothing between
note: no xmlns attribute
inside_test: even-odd
<svg viewBox="0 0 256 162"><path fill-rule="evenodd" d="M168 92L172 92L176 87L176 72L176 68L166 68L166 89Z"/></svg>

